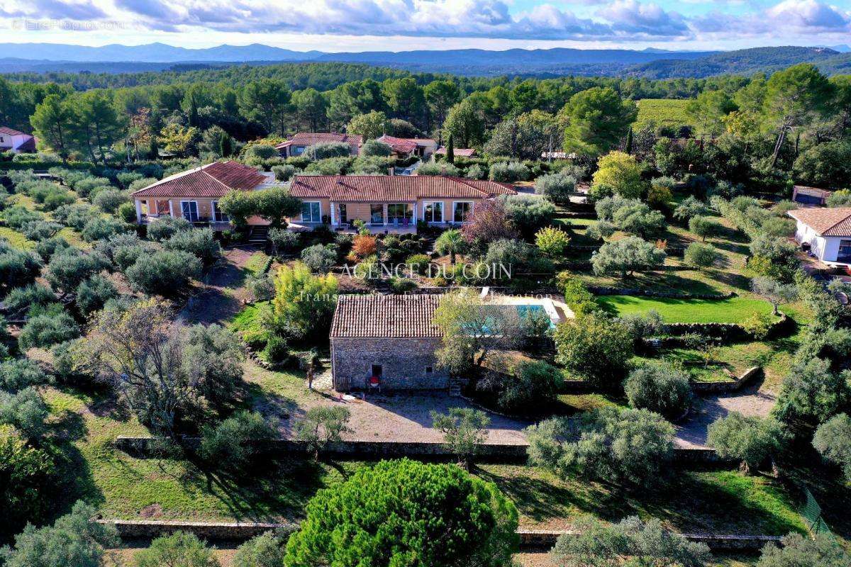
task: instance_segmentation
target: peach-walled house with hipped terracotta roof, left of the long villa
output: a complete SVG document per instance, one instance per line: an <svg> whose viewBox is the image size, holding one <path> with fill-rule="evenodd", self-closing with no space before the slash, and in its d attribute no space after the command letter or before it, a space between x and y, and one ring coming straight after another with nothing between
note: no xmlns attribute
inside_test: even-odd
<svg viewBox="0 0 851 567"><path fill-rule="evenodd" d="M230 219L219 209L219 200L231 190L250 191L275 184L272 173L227 161L213 162L148 185L133 193L136 220L146 224L163 216L183 217L192 223L210 223L226 229ZM248 224L267 224L249 218Z"/></svg>

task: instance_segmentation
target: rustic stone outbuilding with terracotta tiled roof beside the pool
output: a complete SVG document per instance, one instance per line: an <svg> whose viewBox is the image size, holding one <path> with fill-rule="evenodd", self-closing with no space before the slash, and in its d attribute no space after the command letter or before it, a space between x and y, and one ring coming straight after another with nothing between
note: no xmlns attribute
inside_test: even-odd
<svg viewBox="0 0 851 567"><path fill-rule="evenodd" d="M331 371L338 392L443 389L437 367L440 295L342 295L331 325Z"/></svg>

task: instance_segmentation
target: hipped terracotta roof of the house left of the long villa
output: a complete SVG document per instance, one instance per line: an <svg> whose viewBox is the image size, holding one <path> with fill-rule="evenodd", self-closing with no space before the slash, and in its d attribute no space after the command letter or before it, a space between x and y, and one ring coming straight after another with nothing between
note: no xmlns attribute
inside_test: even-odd
<svg viewBox="0 0 851 567"><path fill-rule="evenodd" d="M137 197L222 197L231 190L252 190L266 182L266 176L238 162L214 162L177 173L144 189Z"/></svg>

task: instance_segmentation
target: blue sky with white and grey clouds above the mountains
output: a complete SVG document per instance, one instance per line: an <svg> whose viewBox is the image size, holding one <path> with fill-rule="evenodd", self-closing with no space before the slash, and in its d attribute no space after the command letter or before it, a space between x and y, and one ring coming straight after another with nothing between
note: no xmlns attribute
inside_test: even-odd
<svg viewBox="0 0 851 567"><path fill-rule="evenodd" d="M3 0L0 42L326 52L837 45L851 43L851 0Z"/></svg>

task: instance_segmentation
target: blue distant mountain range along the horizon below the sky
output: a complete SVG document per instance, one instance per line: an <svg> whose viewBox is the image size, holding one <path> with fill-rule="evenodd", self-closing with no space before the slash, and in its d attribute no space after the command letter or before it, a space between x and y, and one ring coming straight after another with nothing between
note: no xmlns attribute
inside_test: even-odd
<svg viewBox="0 0 851 567"><path fill-rule="evenodd" d="M292 51L260 43L214 48L179 48L164 43L87 47L56 43L0 43L0 73L122 73L197 69L237 64L342 62L394 67L408 71L467 76L558 77L710 77L726 73L771 72L796 63L813 63L830 74L851 73L851 48L773 47L737 51L665 51L631 49L485 49L403 52L323 53Z"/></svg>

